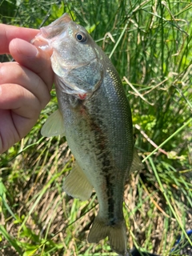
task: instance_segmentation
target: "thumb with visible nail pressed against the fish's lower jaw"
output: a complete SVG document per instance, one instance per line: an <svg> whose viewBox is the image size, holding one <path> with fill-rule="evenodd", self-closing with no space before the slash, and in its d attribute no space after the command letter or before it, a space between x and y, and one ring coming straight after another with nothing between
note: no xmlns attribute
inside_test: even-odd
<svg viewBox="0 0 192 256"><path fill-rule="evenodd" d="M38 74L51 90L54 74L50 64L50 53L22 39L14 39L10 42L10 54L16 62Z"/></svg>

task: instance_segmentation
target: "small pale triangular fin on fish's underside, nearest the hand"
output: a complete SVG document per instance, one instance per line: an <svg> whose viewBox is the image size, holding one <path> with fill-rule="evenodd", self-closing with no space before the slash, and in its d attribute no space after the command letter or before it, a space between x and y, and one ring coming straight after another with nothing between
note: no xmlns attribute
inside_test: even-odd
<svg viewBox="0 0 192 256"><path fill-rule="evenodd" d="M50 114L49 118L46 119L46 122L42 126L41 134L44 137L65 135L64 122L62 114L59 110L56 110L54 113Z"/></svg>

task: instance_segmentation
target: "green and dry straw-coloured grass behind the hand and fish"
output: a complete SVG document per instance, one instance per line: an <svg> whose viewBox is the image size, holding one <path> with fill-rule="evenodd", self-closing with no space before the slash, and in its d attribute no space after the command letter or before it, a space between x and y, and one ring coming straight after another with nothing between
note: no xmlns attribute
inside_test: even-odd
<svg viewBox="0 0 192 256"><path fill-rule="evenodd" d="M128 246L162 255L189 255L170 252L178 234L191 246L191 7L190 0L0 1L0 22L15 26L39 28L69 12L111 57L145 162L126 184ZM0 156L1 255L115 255L106 240L86 242L95 194L80 202L62 192L74 158L65 138L40 134L57 107L52 96L30 134Z"/></svg>

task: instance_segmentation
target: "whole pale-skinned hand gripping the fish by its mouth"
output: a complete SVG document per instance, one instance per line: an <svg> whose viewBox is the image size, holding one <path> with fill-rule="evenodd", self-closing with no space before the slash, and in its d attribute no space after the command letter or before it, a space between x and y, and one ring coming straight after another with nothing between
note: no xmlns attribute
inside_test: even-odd
<svg viewBox="0 0 192 256"><path fill-rule="evenodd" d="M30 43L36 34L0 24L0 54L15 60L0 62L0 154L26 136L50 101L50 54Z"/></svg>

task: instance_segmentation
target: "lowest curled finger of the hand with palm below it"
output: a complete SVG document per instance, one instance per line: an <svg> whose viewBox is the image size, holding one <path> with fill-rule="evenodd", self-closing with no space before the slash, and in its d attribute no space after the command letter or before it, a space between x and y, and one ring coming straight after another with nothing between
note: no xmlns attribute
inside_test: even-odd
<svg viewBox="0 0 192 256"><path fill-rule="evenodd" d="M0 98L10 102L10 110L0 109L1 154L30 131L37 122L41 106L34 94L16 84L1 85Z"/></svg>

